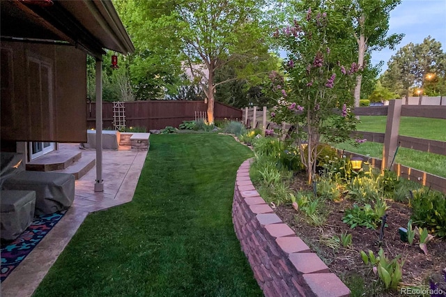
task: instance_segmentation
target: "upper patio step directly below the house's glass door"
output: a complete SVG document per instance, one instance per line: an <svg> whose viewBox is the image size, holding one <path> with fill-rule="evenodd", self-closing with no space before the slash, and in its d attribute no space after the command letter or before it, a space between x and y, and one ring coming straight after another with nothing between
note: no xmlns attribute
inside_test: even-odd
<svg viewBox="0 0 446 297"><path fill-rule="evenodd" d="M82 157L82 152L72 150L58 150L46 153L26 164L26 170L38 172L52 172L63 170L74 164Z"/></svg>

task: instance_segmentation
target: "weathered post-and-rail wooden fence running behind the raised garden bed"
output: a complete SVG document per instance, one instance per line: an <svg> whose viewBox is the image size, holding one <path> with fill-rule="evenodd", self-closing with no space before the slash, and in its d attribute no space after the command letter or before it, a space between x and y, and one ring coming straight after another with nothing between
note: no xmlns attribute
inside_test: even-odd
<svg viewBox="0 0 446 297"><path fill-rule="evenodd" d="M391 169L397 173L398 176L408 178L411 181L417 181L422 185L430 186L435 190L439 190L446 194L446 178L422 172L421 170L406 167L401 164L394 164L394 155L397 148L411 148L417 151L426 151L429 153L437 153L439 155L446 155L446 142L439 142L430 139L421 139L416 137L407 137L399 135L399 122L401 116L414 116L431 119L446 119L446 106L429 106L429 105L401 105L402 100L390 100L388 106L379 107L356 107L354 113L357 116L387 116L387 123L385 133L355 131L353 137L363 137L368 142L378 142L384 144L383 158L370 158L372 165L380 169ZM265 107L263 107L265 109ZM259 119L262 120L263 129L268 127L277 128L277 124L270 123L265 116L259 117L257 108L245 109L243 112L243 123L248 127L259 127ZM255 115L255 116L254 116ZM290 132L294 129L292 125L283 123L281 127L284 132ZM445 125L446 133L446 125ZM345 153L345 152L344 152ZM351 155L360 155L357 153L348 152ZM367 156L360 155L364 160Z"/></svg>

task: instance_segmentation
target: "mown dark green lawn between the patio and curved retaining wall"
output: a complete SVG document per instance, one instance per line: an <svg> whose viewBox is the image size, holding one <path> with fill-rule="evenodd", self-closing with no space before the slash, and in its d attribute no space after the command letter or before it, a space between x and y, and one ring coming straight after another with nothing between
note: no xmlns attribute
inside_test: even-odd
<svg viewBox="0 0 446 297"><path fill-rule="evenodd" d="M233 231L225 135L152 135L133 201L89 215L35 296L262 296Z"/></svg>

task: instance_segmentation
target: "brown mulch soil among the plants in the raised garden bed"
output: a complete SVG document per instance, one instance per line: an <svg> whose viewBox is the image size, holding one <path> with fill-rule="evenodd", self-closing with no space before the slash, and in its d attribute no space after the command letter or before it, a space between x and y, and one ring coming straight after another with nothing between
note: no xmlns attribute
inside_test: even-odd
<svg viewBox="0 0 446 297"><path fill-rule="evenodd" d="M297 176L292 188L295 188L295 190L309 190L305 176ZM400 240L398 229L399 227L407 227L408 220L410 220L410 208L395 201L389 200L386 202L390 208L387 211L387 227L384 231L382 248L385 255L390 259L401 254L404 260L402 283L420 286L427 284L431 278L434 282L439 283L440 289L446 292L446 282L441 274L442 270L446 268L446 240L434 238L433 241L430 241L427 245L429 252L427 255L419 248L417 236L415 236L413 245L404 243ZM330 267L330 270L342 280L348 279L351 275L362 275L366 286L375 287L373 290L364 292L363 296L373 296L379 286L376 285L376 281L372 282L371 280L378 280L378 275L374 275L371 268L364 264L360 257L360 251L372 250L374 254L378 254L380 230L379 228L373 230L364 227L350 229L347 224L342 222L341 218L344 216L344 211L351 208L352 205L353 202L347 199L339 202L328 201L326 206L329 213L328 219L321 227L314 227L309 224L305 214L295 211L291 205L277 206L275 212L312 248L313 252L318 253L319 257ZM320 243L321 238L331 238L333 235L340 236L345 231L353 235L352 248L341 247L338 250L333 250ZM399 292L380 291L379 296L401 295L399 295Z"/></svg>

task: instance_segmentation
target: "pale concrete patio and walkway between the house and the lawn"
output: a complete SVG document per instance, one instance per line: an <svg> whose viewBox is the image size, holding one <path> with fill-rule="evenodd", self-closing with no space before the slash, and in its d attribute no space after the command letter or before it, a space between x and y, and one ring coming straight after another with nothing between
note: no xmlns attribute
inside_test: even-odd
<svg viewBox="0 0 446 297"><path fill-rule="evenodd" d="M79 150L79 144L59 144L61 150ZM94 192L95 167L75 183L75 201L60 222L1 283L1 296L31 296L59 254L70 242L89 213L132 201L147 151L130 151L120 146L118 151L103 151L104 192Z"/></svg>

